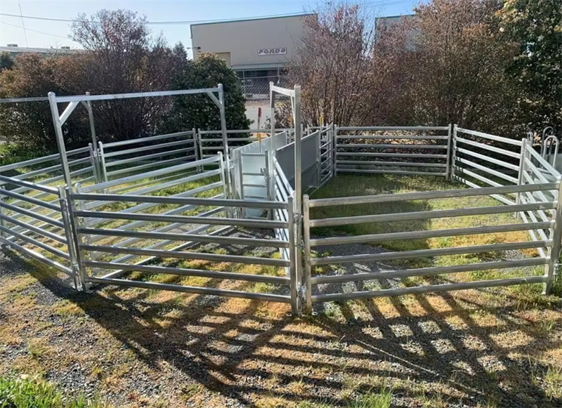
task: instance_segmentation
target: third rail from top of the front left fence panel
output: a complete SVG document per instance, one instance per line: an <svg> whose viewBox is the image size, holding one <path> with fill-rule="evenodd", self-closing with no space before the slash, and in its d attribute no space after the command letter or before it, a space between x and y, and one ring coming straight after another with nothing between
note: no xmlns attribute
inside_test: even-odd
<svg viewBox="0 0 562 408"><path fill-rule="evenodd" d="M143 232L143 231L119 231L119 230L101 230L96 228L77 228L80 234L97 234L107 237L127 237L127 238L145 238L160 239L169 241L190 241L190 242L206 242L211 244L231 244L231 245L255 245L267 246L268 248L288 248L289 242L279 241L277 239L259 239L259 238L239 238L239 237L214 237L210 235L191 235L191 234L169 234L163 232Z"/></svg>

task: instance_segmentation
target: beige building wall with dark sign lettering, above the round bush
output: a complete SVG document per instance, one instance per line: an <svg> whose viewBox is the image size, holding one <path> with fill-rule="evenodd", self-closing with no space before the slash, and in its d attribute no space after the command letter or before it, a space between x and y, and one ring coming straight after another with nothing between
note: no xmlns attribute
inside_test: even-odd
<svg viewBox="0 0 562 408"><path fill-rule="evenodd" d="M194 58L197 53L217 53L230 59L235 70L282 67L302 34L301 15L191 26Z"/></svg>

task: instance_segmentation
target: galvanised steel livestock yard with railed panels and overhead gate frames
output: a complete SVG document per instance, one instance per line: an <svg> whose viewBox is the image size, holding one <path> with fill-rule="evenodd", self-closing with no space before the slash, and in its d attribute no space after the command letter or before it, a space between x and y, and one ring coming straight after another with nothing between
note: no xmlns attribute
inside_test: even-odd
<svg viewBox="0 0 562 408"><path fill-rule="evenodd" d="M300 87L270 88L272 114L275 95L288 98L294 128L226 129L221 85L50 94L60 154L0 169L4 247L82 291L242 297L290 303L293 314L356 298L551 290L562 206L547 148L456 125L302 129ZM216 103L220 131L96 141L96 100L197 93ZM62 114L57 103L68 104ZM62 126L80 104L92 143L67 152ZM412 188L415 180L427 181Z"/></svg>

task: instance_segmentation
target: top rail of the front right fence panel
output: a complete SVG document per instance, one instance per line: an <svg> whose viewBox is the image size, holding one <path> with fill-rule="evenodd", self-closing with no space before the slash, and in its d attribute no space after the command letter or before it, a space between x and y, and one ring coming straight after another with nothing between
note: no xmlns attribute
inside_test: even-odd
<svg viewBox="0 0 562 408"><path fill-rule="evenodd" d="M398 194L360 195L355 197L334 197L324 199L311 199L311 207L339 206L345 204L372 204L380 202L399 202L415 199L434 199L452 197L472 197L478 195L506 194L524 191L557 190L558 183L543 183L535 185L506 185L503 187L480 187L478 189L458 189L423 192L401 192Z"/></svg>

